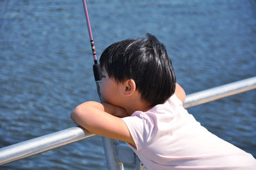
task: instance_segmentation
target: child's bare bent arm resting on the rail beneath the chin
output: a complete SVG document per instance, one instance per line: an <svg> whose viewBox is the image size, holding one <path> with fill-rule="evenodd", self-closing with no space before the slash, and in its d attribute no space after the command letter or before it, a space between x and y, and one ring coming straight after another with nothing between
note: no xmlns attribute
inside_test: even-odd
<svg viewBox="0 0 256 170"><path fill-rule="evenodd" d="M89 132L125 141L136 147L124 120L116 116L124 117L127 113L121 107L98 102L85 102L70 114L77 125Z"/></svg>

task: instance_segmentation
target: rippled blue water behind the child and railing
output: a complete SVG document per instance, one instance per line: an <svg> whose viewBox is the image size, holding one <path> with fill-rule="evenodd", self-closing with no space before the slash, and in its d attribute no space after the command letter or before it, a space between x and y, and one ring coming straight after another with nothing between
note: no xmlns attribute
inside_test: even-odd
<svg viewBox="0 0 256 170"><path fill-rule="evenodd" d="M177 81L194 93L256 75L255 0L88 1L98 58L152 33ZM97 100L82 1L0 1L0 147L74 127L70 112ZM256 92L188 109L212 133L256 157ZM100 137L0 169L106 169Z"/></svg>

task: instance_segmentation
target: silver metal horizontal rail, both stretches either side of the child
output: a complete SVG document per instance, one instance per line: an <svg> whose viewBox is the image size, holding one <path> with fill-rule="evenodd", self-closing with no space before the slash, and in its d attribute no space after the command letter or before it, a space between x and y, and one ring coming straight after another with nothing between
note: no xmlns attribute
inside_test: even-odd
<svg viewBox="0 0 256 170"><path fill-rule="evenodd" d="M250 91L252 89L256 89L256 77L187 95L184 107L193 107L195 105L204 104L230 95L236 95L237 93L243 93L244 91ZM53 134L24 141L22 143L12 144L10 146L0 148L0 165L8 164L10 162L30 157L70 143L75 143L94 135L95 134L90 134L83 128L72 127ZM122 148L123 146L117 147ZM124 160L124 158L122 158L122 155L124 154L119 155L121 156L118 156L118 160ZM132 158L131 161L133 161Z"/></svg>

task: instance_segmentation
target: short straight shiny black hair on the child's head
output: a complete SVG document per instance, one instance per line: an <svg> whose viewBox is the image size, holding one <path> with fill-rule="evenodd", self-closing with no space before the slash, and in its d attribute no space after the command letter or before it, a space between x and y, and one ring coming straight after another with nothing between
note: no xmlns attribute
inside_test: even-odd
<svg viewBox="0 0 256 170"><path fill-rule="evenodd" d="M152 105L162 104L175 91L172 61L156 36L113 43L102 52L100 66L116 82L133 79L141 100Z"/></svg>

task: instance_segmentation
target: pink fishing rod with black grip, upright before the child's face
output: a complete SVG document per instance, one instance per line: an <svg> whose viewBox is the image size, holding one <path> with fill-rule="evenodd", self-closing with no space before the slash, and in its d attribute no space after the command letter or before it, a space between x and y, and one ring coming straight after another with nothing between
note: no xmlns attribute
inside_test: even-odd
<svg viewBox="0 0 256 170"><path fill-rule="evenodd" d="M91 43L91 47L92 47L93 60L94 60L93 75L94 75L94 79L95 79L95 82L96 82L96 85L97 85L98 95L100 97L99 82L102 79L102 72L101 72L101 69L100 69L100 65L97 62L96 50L95 50L95 45L94 45L93 36L92 36L92 29L91 29L91 24L90 24L88 10L87 10L87 6L86 6L86 1L85 0L83 0L83 6L84 6L84 15L85 15L85 18L86 18L88 33L89 33L89 36L90 36L90 43Z"/></svg>

